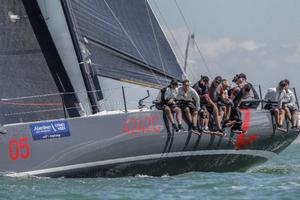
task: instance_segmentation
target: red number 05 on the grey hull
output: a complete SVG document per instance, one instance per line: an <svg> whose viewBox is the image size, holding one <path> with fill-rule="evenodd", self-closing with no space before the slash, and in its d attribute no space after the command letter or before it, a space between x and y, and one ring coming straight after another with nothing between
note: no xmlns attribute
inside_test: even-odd
<svg viewBox="0 0 300 200"><path fill-rule="evenodd" d="M27 159L30 157L30 146L27 137L11 139L8 144L9 157L11 160Z"/></svg>

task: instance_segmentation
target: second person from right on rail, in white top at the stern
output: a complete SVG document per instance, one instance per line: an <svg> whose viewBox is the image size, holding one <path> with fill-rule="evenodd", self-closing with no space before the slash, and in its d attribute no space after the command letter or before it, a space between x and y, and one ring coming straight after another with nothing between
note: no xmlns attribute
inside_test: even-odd
<svg viewBox="0 0 300 200"><path fill-rule="evenodd" d="M283 98L283 92L287 87L286 85L285 81L280 81L278 87L268 89L264 98L265 101L267 101L264 108L270 110L271 114L274 115L277 128L282 131L286 131L286 129L283 128L286 111L282 108L282 100L280 99ZM279 103L281 105L279 105Z"/></svg>

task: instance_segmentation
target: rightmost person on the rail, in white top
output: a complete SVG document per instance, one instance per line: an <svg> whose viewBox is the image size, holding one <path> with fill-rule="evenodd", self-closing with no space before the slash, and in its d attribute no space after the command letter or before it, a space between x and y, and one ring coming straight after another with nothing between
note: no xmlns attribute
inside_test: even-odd
<svg viewBox="0 0 300 200"><path fill-rule="evenodd" d="M298 128L298 112L296 108L295 94L289 89L290 81L285 79L282 98L279 99L279 106L284 109L286 116L292 123L292 129Z"/></svg>

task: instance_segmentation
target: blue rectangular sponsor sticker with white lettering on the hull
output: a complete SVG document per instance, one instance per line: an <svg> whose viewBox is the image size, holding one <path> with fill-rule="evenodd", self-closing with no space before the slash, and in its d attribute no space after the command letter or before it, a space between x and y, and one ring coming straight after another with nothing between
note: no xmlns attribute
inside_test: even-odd
<svg viewBox="0 0 300 200"><path fill-rule="evenodd" d="M34 140L69 137L69 124L66 120L44 122L30 125Z"/></svg>

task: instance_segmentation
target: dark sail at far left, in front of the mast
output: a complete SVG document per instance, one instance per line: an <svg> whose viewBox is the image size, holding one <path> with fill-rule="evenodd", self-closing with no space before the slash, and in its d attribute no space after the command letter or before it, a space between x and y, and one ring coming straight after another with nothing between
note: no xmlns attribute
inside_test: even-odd
<svg viewBox="0 0 300 200"><path fill-rule="evenodd" d="M0 123L65 117L76 98L61 95L72 85L36 2L1 0L0 10Z"/></svg>

